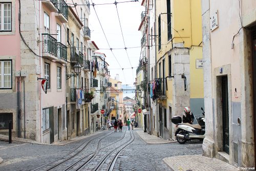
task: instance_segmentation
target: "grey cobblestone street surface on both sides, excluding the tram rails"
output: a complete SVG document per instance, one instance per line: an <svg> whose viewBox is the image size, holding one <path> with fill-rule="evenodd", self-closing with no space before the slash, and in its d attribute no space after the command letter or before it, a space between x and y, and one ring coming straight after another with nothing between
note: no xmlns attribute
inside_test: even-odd
<svg viewBox="0 0 256 171"><path fill-rule="evenodd" d="M66 145L44 145L24 142L13 142L12 144L8 144L8 142L0 141L0 157L4 159L4 161L0 164L0 170L35 169L68 154L72 149L78 147L84 142L87 143L89 141L89 145L86 146L82 152L83 156L89 155L95 151L97 147L102 148L104 146L108 146L95 155L97 156L95 161L98 162L101 160L99 157L108 154L108 150L110 152L112 149L116 149L113 151L113 154L110 155L112 158L114 158L114 153L117 153L118 149L124 147L121 144L128 141L132 137L135 137L135 140L130 145L125 147L120 153L116 160L114 170L170 170L169 167L163 162L163 158L178 155L202 154L202 143L194 142L179 144L177 142L173 142L165 144L147 144L136 133L137 131L141 130L131 130L131 132L127 131L125 134L125 129L126 126L124 126L123 132L112 134L110 134L110 131L105 131L103 133L99 133L98 135L92 135L86 139L68 143ZM132 132L134 134L132 134ZM103 138L106 134L110 135ZM122 137L125 137L124 140L119 141ZM100 139L101 142L98 145ZM118 146L120 147L117 148ZM72 164L75 160L78 160L78 158L79 157L72 159L68 164ZM110 161L111 159L108 158L102 162L101 170L105 170L107 168L106 163ZM65 166L68 164L66 163ZM63 170L63 168L56 167L53 170Z"/></svg>

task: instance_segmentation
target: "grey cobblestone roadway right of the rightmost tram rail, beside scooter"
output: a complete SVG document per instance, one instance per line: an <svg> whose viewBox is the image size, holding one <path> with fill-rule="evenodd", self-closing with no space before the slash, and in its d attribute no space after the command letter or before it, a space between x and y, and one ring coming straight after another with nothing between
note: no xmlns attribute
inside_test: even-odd
<svg viewBox="0 0 256 171"><path fill-rule="evenodd" d="M179 155L202 154L202 143L178 142L164 144L146 144L134 130L135 141L124 148L118 157L114 170L170 170L163 158ZM154 139L154 138L153 138Z"/></svg>

